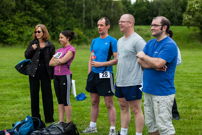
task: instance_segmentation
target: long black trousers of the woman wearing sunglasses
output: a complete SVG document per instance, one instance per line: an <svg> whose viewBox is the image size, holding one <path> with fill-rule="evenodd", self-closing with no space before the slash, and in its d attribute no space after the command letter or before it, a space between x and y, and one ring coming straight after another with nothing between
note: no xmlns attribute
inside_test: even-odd
<svg viewBox="0 0 202 135"><path fill-rule="evenodd" d="M51 79L46 70L45 64L38 66L35 77L29 76L30 95L31 95L31 111L32 117L41 119L39 110L39 89L41 85L43 110L45 122L54 122L53 119L53 95L51 89Z"/></svg>

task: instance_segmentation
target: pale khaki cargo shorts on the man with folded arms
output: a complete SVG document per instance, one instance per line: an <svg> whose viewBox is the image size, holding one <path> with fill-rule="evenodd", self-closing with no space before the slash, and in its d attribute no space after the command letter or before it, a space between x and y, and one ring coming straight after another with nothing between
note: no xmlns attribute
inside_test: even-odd
<svg viewBox="0 0 202 135"><path fill-rule="evenodd" d="M175 134L172 124L172 106L175 94L155 96L144 93L145 125L149 133L159 131L161 135Z"/></svg>

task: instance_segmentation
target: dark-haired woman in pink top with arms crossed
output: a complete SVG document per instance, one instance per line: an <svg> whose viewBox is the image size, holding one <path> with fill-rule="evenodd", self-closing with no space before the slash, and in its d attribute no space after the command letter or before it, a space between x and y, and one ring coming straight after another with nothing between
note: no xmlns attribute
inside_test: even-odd
<svg viewBox="0 0 202 135"><path fill-rule="evenodd" d="M58 100L59 122L64 122L65 113L66 123L70 122L72 113L70 104L72 72L70 65L75 57L75 49L69 42L74 37L74 32L62 31L59 35L59 41L63 47L56 51L49 62L49 65L54 67L54 87Z"/></svg>

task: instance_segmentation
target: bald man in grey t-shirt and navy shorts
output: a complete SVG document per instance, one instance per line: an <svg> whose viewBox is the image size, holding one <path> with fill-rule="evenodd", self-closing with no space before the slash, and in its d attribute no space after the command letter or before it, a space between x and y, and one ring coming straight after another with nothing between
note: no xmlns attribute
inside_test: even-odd
<svg viewBox="0 0 202 135"><path fill-rule="evenodd" d="M142 135L144 116L141 110L141 83L143 70L136 54L142 51L146 42L134 31L135 18L124 14L119 20L124 36L117 44L116 92L121 108L121 135L127 135L130 122L130 107L135 115L136 135Z"/></svg>

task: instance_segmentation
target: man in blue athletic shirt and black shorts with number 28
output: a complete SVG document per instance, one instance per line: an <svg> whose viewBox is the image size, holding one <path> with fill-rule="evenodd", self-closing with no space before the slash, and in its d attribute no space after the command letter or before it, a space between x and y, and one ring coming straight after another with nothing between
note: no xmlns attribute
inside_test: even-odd
<svg viewBox="0 0 202 135"><path fill-rule="evenodd" d="M108 35L110 21L108 18L101 18L98 23L100 37L91 43L91 54L88 62L88 79L86 91L91 95L91 122L81 133L97 132L96 121L99 114L100 96L105 99L110 122L109 135L116 135L115 122L116 110L113 103L114 77L112 65L117 64L117 40ZM114 59L111 59L113 55Z"/></svg>

